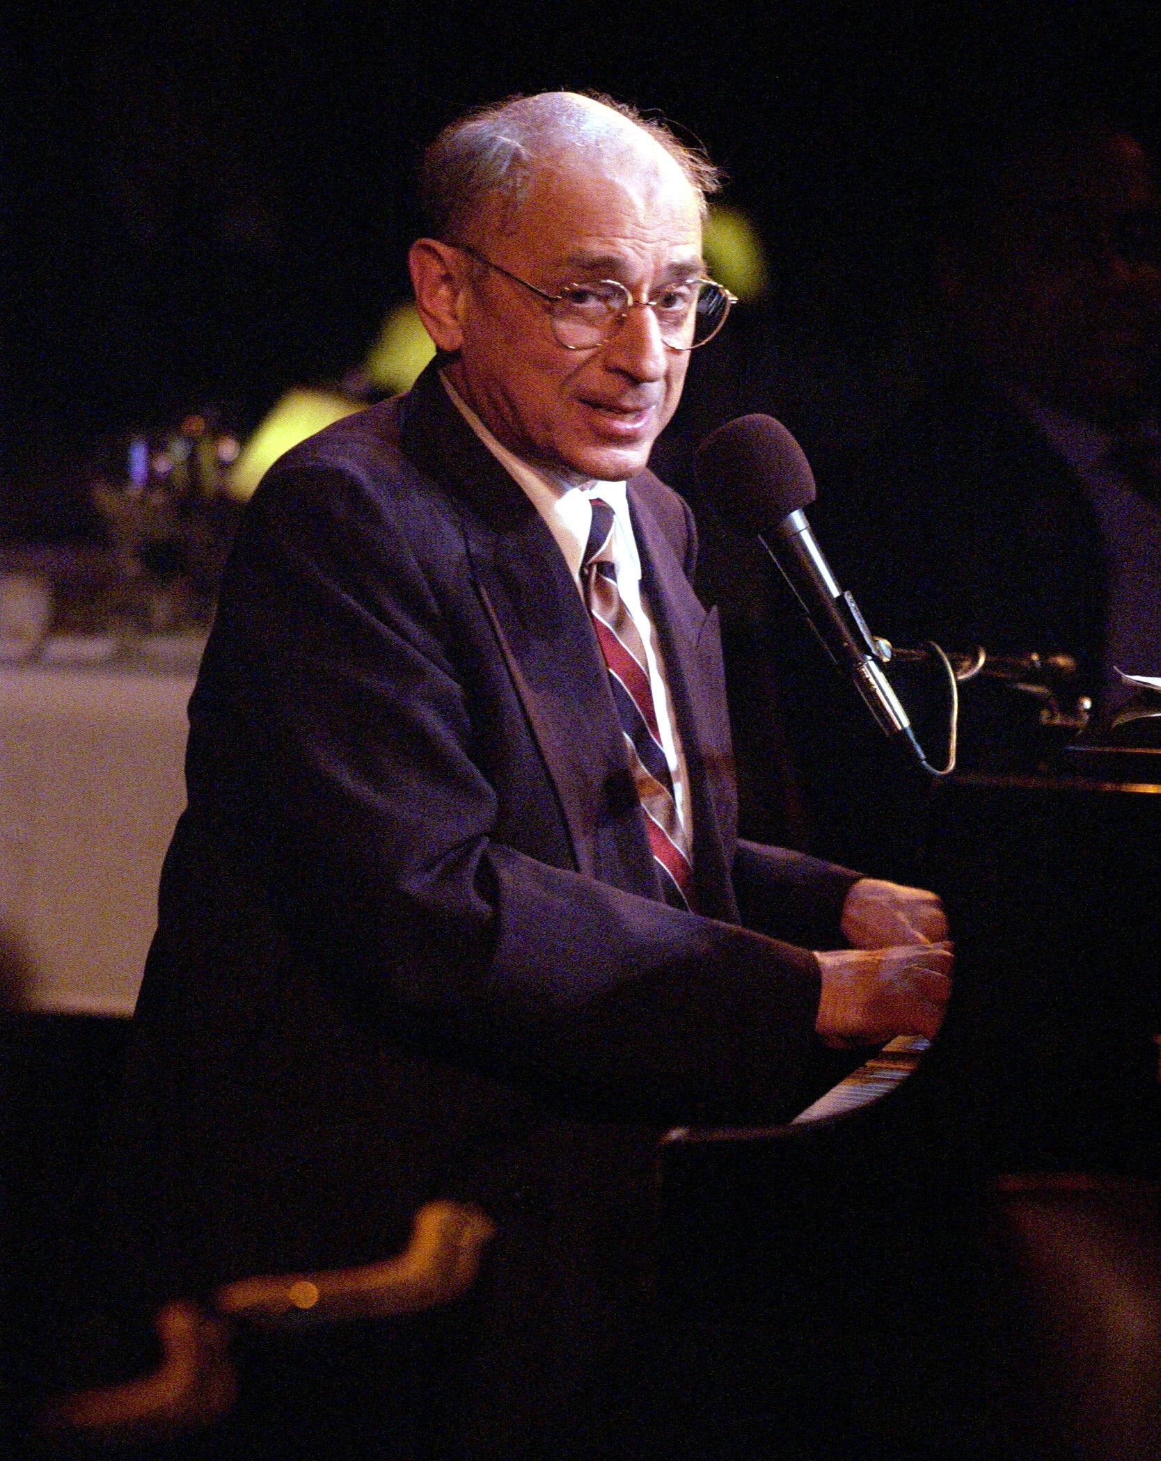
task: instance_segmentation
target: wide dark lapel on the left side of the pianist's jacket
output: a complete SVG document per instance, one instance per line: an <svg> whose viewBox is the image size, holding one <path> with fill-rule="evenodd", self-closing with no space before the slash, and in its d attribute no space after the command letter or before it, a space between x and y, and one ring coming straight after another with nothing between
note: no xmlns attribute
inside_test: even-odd
<svg viewBox="0 0 1161 1461"><path fill-rule="evenodd" d="M580 872L659 896L624 742L588 612L540 513L427 371L401 446L461 506L468 555Z"/></svg>

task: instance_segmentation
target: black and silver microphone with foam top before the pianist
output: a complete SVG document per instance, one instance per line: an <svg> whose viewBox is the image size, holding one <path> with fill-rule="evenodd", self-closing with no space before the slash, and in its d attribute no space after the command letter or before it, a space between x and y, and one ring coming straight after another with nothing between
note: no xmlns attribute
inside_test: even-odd
<svg viewBox="0 0 1161 1461"><path fill-rule="evenodd" d="M866 619L854 598L838 586L810 532L803 508L814 501L814 473L790 431L774 416L738 416L700 444L696 475L700 488L725 508L724 516L757 535L879 729L930 771L908 714L882 671Z"/></svg>

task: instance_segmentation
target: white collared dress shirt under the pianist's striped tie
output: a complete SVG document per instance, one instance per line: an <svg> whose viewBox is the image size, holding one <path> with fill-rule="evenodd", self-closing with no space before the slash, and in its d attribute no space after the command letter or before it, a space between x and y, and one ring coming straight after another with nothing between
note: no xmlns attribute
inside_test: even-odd
<svg viewBox="0 0 1161 1461"><path fill-rule="evenodd" d="M693 844L693 825L689 802L689 773L686 757L681 749L681 736L673 714L673 697L665 676L665 663L661 657L661 646L657 628L649 611L649 603L640 590L640 554L638 541L633 536L633 520L629 516L629 497L624 482L583 482L570 485L554 478L550 472L529 466L528 462L513 456L507 447L502 446L477 416L471 406L459 396L446 377L440 377L443 389L459 413L491 451L504 470L515 478L529 501L544 519L548 532L556 539L564 555L569 573L576 583L578 593L583 599L585 590L580 583L580 561L585 557L589 527L592 526L592 498L600 497L613 508L616 526L613 530L613 558L617 568L617 589L621 602L632 617L645 646L645 657L649 669L649 690L654 697L657 712L657 729L661 736L661 748L673 777L673 799L677 815L686 830L690 846Z"/></svg>

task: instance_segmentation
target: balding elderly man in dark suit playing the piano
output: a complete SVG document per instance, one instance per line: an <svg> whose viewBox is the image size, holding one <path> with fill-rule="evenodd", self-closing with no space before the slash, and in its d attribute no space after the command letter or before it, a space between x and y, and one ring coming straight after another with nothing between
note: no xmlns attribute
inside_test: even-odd
<svg viewBox="0 0 1161 1461"><path fill-rule="evenodd" d="M447 129L439 358L269 473L190 706L113 1246L148 1308L480 1202L440 1455L611 1455L658 1131L788 1115L822 1043L948 996L934 897L735 840L693 522L645 469L730 304L712 184L570 94Z"/></svg>

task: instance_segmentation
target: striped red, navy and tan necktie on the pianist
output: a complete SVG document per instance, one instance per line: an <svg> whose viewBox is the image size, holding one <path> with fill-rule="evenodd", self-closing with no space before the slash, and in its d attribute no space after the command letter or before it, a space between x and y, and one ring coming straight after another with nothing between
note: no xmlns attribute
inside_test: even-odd
<svg viewBox="0 0 1161 1461"><path fill-rule="evenodd" d="M665 901L676 907L693 903L693 866L689 842L673 799L670 764L657 729L645 644L617 587L613 561L616 517L608 503L592 498L592 527L580 562L585 603L608 666L613 700L624 732L633 785L638 790L649 849L661 872Z"/></svg>

